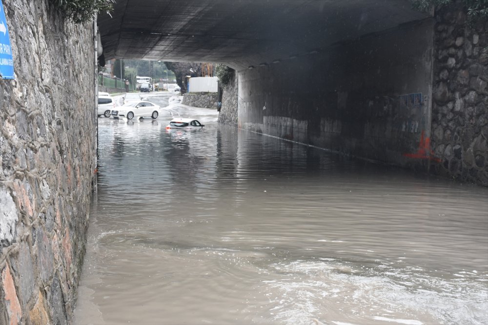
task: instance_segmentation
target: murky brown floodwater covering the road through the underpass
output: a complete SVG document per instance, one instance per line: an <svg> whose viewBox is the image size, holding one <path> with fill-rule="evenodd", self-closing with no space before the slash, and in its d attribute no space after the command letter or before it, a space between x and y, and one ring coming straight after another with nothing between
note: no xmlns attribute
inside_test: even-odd
<svg viewBox="0 0 488 325"><path fill-rule="evenodd" d="M217 123L99 118L74 324L487 324L488 189Z"/></svg>

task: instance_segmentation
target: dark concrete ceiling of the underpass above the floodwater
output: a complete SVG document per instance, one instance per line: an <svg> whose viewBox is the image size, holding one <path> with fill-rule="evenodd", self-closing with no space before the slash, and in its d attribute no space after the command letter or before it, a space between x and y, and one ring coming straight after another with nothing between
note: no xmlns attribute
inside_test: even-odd
<svg viewBox="0 0 488 325"><path fill-rule="evenodd" d="M326 51L428 16L409 0L117 0L99 15L105 59L248 66Z"/></svg>

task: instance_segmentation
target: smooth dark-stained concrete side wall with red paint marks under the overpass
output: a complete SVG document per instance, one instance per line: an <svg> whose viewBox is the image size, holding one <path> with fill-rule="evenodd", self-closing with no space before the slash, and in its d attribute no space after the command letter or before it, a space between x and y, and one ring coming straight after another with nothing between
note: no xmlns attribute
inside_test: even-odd
<svg viewBox="0 0 488 325"><path fill-rule="evenodd" d="M239 72L239 127L427 170L433 20Z"/></svg>

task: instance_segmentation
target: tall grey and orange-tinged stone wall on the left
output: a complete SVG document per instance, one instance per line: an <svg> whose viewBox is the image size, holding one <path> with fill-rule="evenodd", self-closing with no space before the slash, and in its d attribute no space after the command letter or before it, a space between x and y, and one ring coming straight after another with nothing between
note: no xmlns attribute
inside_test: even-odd
<svg viewBox="0 0 488 325"><path fill-rule="evenodd" d="M2 3L16 78L0 79L0 324L67 324L95 185L93 24Z"/></svg>

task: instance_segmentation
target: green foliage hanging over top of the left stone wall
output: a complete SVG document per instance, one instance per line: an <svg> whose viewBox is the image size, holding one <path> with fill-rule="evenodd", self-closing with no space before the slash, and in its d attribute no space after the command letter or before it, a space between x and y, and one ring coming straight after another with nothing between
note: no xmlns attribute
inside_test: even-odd
<svg viewBox="0 0 488 325"><path fill-rule="evenodd" d="M50 0L56 9L75 23L93 19L95 13L106 12L110 15L115 0Z"/></svg>

